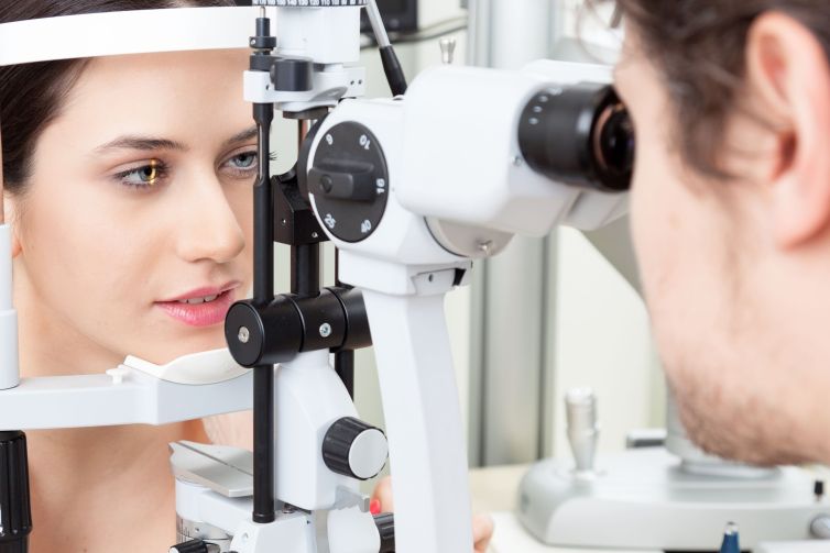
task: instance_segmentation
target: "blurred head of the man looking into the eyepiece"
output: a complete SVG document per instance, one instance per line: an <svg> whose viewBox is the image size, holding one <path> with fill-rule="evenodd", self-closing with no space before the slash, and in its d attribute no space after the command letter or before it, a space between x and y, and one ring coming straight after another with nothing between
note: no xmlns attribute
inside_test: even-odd
<svg viewBox="0 0 830 553"><path fill-rule="evenodd" d="M830 3L619 2L633 230L682 420L712 453L830 461Z"/></svg>

